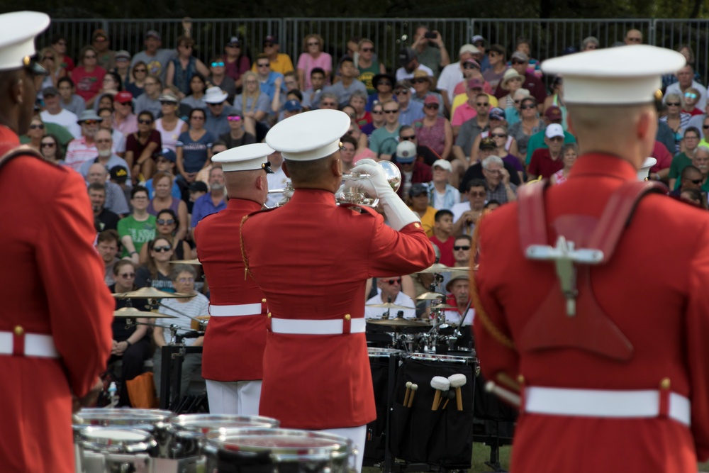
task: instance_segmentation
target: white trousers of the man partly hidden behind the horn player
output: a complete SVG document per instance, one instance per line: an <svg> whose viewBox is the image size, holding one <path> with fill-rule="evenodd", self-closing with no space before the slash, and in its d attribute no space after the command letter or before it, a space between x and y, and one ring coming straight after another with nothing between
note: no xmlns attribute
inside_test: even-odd
<svg viewBox="0 0 709 473"><path fill-rule="evenodd" d="M261 380L212 381L206 379L209 413L258 416Z"/></svg>

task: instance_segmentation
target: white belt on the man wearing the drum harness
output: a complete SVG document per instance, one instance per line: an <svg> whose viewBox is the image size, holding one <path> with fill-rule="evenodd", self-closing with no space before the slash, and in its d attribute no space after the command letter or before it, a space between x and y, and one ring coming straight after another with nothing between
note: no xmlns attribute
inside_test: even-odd
<svg viewBox="0 0 709 473"><path fill-rule="evenodd" d="M557 416L654 418L660 415L661 391L642 389L564 389L529 386L525 388L525 411ZM669 418L690 425L689 399L669 393Z"/></svg>

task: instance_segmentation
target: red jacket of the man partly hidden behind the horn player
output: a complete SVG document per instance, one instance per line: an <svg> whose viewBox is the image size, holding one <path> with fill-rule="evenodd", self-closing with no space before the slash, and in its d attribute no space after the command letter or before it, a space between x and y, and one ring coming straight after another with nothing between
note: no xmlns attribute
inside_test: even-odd
<svg viewBox="0 0 709 473"><path fill-rule="evenodd" d="M210 304L262 304L259 316L211 317L204 335L202 376L214 381L262 379L266 304L254 279L244 279L239 247L241 219L259 210L254 201L229 199L225 210L199 222L194 239L209 283Z"/></svg>

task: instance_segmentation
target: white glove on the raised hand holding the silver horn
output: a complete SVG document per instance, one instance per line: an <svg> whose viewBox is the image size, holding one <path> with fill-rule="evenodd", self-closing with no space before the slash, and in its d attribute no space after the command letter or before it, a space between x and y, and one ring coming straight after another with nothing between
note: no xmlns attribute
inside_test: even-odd
<svg viewBox="0 0 709 473"><path fill-rule="evenodd" d="M367 179L345 179L345 185L362 189L370 196L375 196L381 201L384 214L389 219L389 225L394 230L401 230L409 223L420 222L420 218L408 208L401 198L396 195L391 185L384 176L384 171L379 165L359 161L353 170L358 174L369 174ZM364 162L364 163L363 163Z"/></svg>

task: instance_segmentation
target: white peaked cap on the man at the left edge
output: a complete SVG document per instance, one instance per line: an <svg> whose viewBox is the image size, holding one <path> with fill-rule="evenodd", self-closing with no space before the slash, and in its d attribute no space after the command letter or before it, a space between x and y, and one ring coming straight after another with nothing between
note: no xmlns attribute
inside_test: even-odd
<svg viewBox="0 0 709 473"><path fill-rule="evenodd" d="M38 11L15 11L0 15L0 70L29 65L35 55L35 36L49 26L49 16Z"/></svg>

